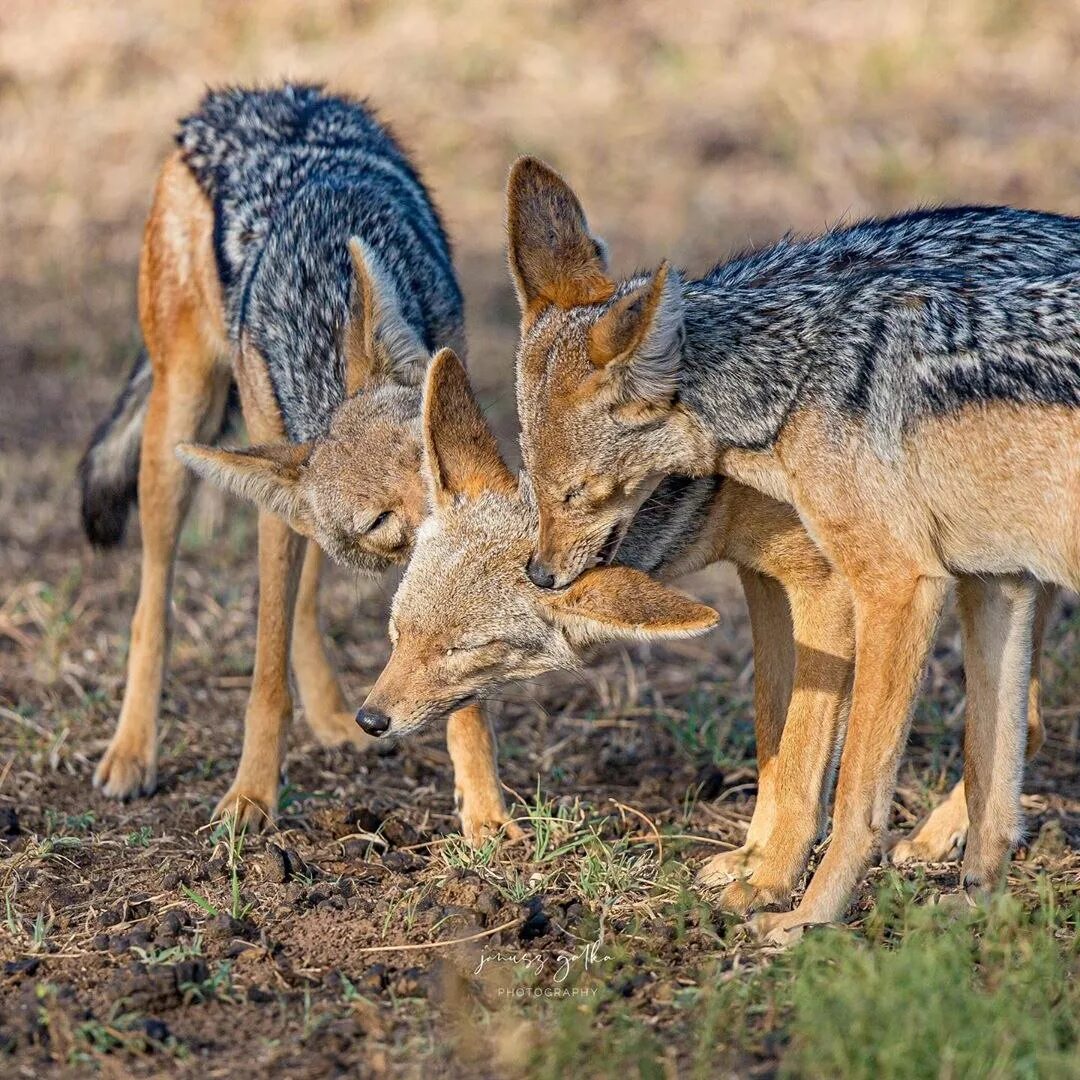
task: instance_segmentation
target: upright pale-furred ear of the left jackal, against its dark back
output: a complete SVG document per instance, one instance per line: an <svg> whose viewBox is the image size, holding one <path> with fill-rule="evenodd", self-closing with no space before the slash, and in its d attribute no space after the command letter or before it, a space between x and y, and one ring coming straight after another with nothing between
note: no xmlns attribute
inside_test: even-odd
<svg viewBox="0 0 1080 1080"><path fill-rule="evenodd" d="M352 298L345 329L345 388L348 395L380 382L417 386L428 350L405 321L393 280L359 238L349 241Z"/></svg>

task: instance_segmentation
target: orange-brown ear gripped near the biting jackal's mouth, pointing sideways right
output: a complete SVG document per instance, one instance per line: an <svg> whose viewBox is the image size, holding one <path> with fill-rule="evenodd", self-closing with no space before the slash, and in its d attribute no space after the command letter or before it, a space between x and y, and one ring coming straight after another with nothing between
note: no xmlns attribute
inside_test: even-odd
<svg viewBox="0 0 1080 1080"><path fill-rule="evenodd" d="M712 630L719 616L704 604L629 566L586 570L568 589L541 604L571 644L692 637Z"/></svg>

